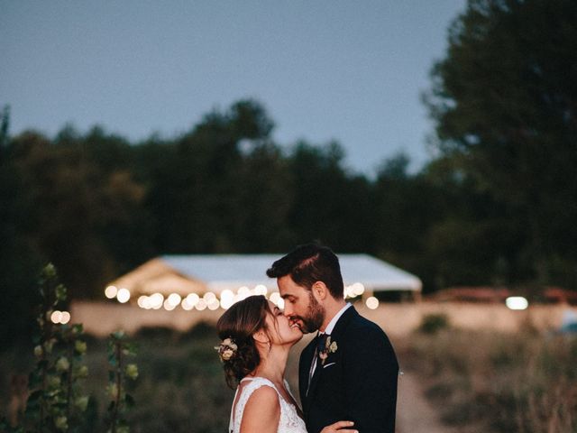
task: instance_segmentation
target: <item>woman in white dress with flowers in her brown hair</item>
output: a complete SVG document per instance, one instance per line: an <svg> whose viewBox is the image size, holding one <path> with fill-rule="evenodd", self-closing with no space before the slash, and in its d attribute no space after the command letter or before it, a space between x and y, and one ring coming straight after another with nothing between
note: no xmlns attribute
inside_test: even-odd
<svg viewBox="0 0 577 433"><path fill-rule="evenodd" d="M223 340L215 347L226 383L236 388L230 433L307 433L303 415L284 380L290 347L302 332L264 296L251 296L227 309L216 324ZM321 433L356 433L338 421Z"/></svg>

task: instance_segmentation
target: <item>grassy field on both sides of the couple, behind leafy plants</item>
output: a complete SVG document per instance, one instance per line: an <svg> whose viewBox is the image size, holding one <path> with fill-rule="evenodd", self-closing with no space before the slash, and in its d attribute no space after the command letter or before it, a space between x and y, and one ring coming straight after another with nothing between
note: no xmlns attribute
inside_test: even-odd
<svg viewBox="0 0 577 433"><path fill-rule="evenodd" d="M448 426L463 432L577 431L577 339L468 331L444 324L393 342L399 363L424 384ZM215 328L201 323L188 333L143 329L133 336L140 376L131 390L133 432L222 432L234 392L224 384L213 346ZM89 338L85 383L93 397L79 431L105 431L106 344ZM298 348L295 350L298 352ZM296 359L289 359L295 389ZM8 404L9 377L32 366L32 345L0 355L0 407ZM415 432L418 433L418 432Z"/></svg>

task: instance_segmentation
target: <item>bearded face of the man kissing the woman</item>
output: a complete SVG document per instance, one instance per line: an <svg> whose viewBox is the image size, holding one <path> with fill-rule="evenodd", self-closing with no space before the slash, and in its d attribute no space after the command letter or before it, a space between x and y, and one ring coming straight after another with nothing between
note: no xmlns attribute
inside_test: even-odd
<svg viewBox="0 0 577 433"><path fill-rule="evenodd" d="M313 293L299 286L289 275L277 280L279 292L285 300L285 316L298 325L303 334L315 332L325 319L325 309Z"/></svg>

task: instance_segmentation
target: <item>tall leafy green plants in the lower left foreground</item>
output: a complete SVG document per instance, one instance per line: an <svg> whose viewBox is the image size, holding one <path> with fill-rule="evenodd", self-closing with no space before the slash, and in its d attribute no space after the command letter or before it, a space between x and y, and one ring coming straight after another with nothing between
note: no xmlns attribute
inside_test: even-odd
<svg viewBox="0 0 577 433"><path fill-rule="evenodd" d="M87 338L81 324L60 323L58 316L60 309L66 307L68 290L60 283L53 264L42 269L38 290L41 304L33 337L35 364L27 383L26 410L15 421L12 413L10 422L1 419L0 429L19 433L95 431L99 424L97 403L83 391L85 387L80 386L86 384L88 377ZM129 431L124 417L127 410L133 408L134 399L127 392L126 382L135 381L139 372L138 366L128 363L127 358L134 355L135 345L124 332L110 336L106 396L108 426L112 432Z"/></svg>

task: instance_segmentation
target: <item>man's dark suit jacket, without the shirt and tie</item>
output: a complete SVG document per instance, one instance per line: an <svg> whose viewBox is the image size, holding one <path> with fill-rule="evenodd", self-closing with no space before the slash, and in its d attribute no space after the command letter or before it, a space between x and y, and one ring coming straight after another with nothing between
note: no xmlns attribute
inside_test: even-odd
<svg viewBox="0 0 577 433"><path fill-rule="evenodd" d="M300 354L298 387L308 433L340 420L354 421L360 433L395 431L397 356L378 325L349 307L331 333L336 352L316 363L307 392L316 340Z"/></svg>

